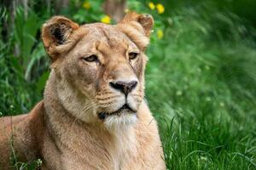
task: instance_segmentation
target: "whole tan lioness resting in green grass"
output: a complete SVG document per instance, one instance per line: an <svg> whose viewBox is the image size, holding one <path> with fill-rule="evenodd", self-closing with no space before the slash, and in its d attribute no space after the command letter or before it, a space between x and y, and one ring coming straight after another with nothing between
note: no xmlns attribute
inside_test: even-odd
<svg viewBox="0 0 256 170"><path fill-rule="evenodd" d="M153 24L150 15L136 13L117 25L48 20L44 99L26 115L1 118L0 168L11 168L15 152L20 161L41 159L41 169L166 169L143 99Z"/></svg>

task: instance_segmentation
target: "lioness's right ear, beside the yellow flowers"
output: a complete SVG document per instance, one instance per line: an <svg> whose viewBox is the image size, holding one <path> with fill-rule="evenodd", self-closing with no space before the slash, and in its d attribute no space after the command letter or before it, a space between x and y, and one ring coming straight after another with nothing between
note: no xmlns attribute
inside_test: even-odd
<svg viewBox="0 0 256 170"><path fill-rule="evenodd" d="M153 17L150 14L137 14L130 12L118 23L121 31L137 43L139 48L146 48L150 33L154 26Z"/></svg>

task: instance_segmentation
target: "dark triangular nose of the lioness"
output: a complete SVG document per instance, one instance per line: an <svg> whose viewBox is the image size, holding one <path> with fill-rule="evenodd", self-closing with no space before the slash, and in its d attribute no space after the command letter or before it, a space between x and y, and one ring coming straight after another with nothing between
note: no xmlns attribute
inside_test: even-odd
<svg viewBox="0 0 256 170"><path fill-rule="evenodd" d="M109 82L110 86L114 89L117 89L125 94L129 94L133 88L136 88L137 81L131 82Z"/></svg>

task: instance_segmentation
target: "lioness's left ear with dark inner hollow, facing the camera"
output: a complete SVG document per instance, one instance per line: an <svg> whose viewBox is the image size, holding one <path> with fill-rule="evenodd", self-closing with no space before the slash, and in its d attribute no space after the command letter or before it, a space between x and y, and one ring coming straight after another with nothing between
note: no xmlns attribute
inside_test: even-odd
<svg viewBox="0 0 256 170"><path fill-rule="evenodd" d="M63 16L54 16L44 23L42 27L42 40L44 48L52 61L55 61L58 54L55 48L65 44L73 31L77 30L79 25Z"/></svg>

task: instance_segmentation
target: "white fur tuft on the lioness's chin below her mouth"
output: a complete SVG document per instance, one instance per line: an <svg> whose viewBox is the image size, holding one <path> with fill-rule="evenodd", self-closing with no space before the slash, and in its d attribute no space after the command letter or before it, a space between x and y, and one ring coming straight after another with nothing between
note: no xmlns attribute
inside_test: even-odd
<svg viewBox="0 0 256 170"><path fill-rule="evenodd" d="M107 116L104 125L109 131L129 127L137 122L137 115L131 113L122 113L118 115Z"/></svg>

